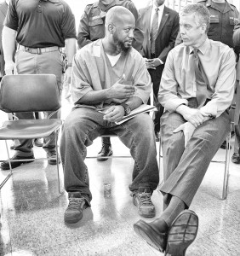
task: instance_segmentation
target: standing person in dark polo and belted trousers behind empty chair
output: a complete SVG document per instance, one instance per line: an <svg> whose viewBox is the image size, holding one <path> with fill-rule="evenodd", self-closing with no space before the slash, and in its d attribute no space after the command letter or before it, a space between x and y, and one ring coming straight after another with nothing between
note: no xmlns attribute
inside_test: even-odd
<svg viewBox="0 0 240 256"><path fill-rule="evenodd" d="M76 53L76 26L69 5L62 1L19 0L9 3L9 10L3 27L3 52L5 72L12 74L52 73L57 78L61 92L63 62L60 49L66 47L68 67L66 76L71 77L71 61ZM12 59L15 40L18 43L15 63ZM44 85L44 84L43 84ZM50 113L45 113L49 116ZM19 119L33 119L33 113L16 113ZM52 118L59 118L60 112ZM48 158L56 155L54 134L44 137L43 148ZM20 140L14 148L12 160L34 159L32 140ZM56 160L49 159L50 165ZM14 161L12 168L24 161ZM9 170L9 161L1 163L3 170Z"/></svg>

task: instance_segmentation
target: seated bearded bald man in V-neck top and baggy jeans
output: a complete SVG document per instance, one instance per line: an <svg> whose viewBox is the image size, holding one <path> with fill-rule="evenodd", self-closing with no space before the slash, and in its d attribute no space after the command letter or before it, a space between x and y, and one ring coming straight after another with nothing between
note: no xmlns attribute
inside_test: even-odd
<svg viewBox="0 0 240 256"><path fill-rule="evenodd" d="M151 78L145 61L132 47L134 15L122 6L106 14L105 37L77 51L72 66L71 97L75 104L66 118L60 141L64 183L69 196L64 219L77 223L90 207L87 146L111 131L130 148L134 158L132 192L143 217L154 217L151 194L159 181L156 143L151 117L140 113L121 125L123 116L149 99Z"/></svg>

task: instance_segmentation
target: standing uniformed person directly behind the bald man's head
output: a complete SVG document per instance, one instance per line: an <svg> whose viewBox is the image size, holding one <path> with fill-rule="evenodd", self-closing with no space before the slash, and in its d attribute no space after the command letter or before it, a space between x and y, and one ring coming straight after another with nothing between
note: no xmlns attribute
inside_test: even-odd
<svg viewBox="0 0 240 256"><path fill-rule="evenodd" d="M80 49L97 39L104 38L106 13L113 6L123 6L134 15L136 27L134 30L133 47L138 51L142 49L144 34L140 23L140 15L134 3L130 0L100 0L96 3L88 4L80 20L77 32L77 44ZM113 152L110 137L103 137L102 148L97 160L105 161L107 158L103 157L110 156L111 154Z"/></svg>

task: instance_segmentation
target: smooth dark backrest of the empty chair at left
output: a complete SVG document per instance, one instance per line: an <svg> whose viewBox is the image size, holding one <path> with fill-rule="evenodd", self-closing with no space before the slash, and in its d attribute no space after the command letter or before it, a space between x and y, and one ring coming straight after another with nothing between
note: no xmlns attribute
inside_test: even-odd
<svg viewBox="0 0 240 256"><path fill-rule="evenodd" d="M0 109L4 112L55 111L60 106L54 74L5 75L1 81Z"/></svg>

